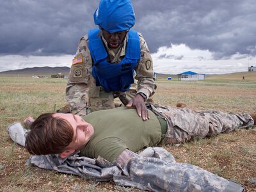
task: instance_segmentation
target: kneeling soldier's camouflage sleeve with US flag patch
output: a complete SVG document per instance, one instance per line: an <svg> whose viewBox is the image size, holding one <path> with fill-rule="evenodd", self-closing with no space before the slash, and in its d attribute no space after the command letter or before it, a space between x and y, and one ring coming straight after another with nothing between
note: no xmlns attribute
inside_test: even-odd
<svg viewBox="0 0 256 192"><path fill-rule="evenodd" d="M88 90L92 86L95 86L92 57L88 47L88 35L85 35L79 41L68 75L66 99L72 113L81 116L88 113Z"/></svg>

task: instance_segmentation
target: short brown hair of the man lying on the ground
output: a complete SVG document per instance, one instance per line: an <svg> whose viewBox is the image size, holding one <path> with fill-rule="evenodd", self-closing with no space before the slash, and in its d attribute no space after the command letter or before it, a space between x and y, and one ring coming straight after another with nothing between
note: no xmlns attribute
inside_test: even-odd
<svg viewBox="0 0 256 192"><path fill-rule="evenodd" d="M31 124L25 143L30 154L60 154L72 142L74 131L70 123L53 114L42 114Z"/></svg>

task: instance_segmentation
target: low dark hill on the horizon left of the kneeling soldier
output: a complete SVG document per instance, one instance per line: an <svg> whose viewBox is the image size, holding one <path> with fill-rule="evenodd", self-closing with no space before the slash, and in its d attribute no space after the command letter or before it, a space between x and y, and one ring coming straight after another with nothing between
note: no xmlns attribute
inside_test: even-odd
<svg viewBox="0 0 256 192"><path fill-rule="evenodd" d="M8 70L0 72L0 76L49 76L52 74L61 73L64 76L68 76L70 68L69 67L33 67L33 68L23 68L18 70Z"/></svg>

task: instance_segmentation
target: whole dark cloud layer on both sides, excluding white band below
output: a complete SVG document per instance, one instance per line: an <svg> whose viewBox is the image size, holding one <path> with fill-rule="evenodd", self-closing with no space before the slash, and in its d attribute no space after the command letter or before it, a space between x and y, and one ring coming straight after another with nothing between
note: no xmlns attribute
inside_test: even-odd
<svg viewBox="0 0 256 192"><path fill-rule="evenodd" d="M132 1L135 29L151 52L186 44L209 50L215 59L256 55L255 0ZM0 7L0 53L74 54L79 38L95 25L99 1L4 1ZM165 56L168 57L168 56Z"/></svg>

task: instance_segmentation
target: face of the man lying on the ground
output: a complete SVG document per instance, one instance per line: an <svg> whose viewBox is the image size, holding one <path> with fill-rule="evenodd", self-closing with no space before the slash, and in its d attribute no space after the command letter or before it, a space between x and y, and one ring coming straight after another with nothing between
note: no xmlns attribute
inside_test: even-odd
<svg viewBox="0 0 256 192"><path fill-rule="evenodd" d="M72 142L65 148L66 150L79 150L92 138L94 129L91 124L85 122L81 116L71 113L54 113L54 117L67 120L73 128L74 136Z"/></svg>

